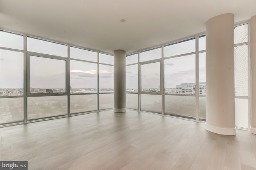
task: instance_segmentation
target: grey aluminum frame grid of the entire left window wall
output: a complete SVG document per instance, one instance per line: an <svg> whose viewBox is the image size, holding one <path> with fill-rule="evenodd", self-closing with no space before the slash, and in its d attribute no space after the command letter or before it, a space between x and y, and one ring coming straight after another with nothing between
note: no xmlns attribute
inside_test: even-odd
<svg viewBox="0 0 256 170"><path fill-rule="evenodd" d="M7 124L1 124L0 127L8 127L8 126L13 126L13 125L21 125L21 124L26 124L26 123L32 123L32 122L38 122L38 121L46 121L46 120L52 120L52 119L59 119L62 117L71 117L71 116L76 116L76 115L82 115L82 114L88 114L88 113L97 113L98 111L100 111L99 109L99 95L100 94L114 94L114 92L110 92L110 93L100 93L99 92L99 65L110 65L114 67L114 64L108 64L108 63L99 63L99 53L103 53L106 55L112 55L114 57L114 55L112 53L107 53L105 51L100 51L100 50L95 50L95 49L90 49L90 48L86 48L86 47L82 47L79 45L75 45L75 44L71 44L71 43L66 43L66 42L60 42L57 40L52 40L49 38L44 38L44 37L40 37L40 36L35 36L32 34L27 34L24 32L17 32L17 31L13 31L13 30L6 30L3 28L0 28L1 31L3 32L8 32L11 34L17 34L20 36L23 36L23 50L21 49L13 49L13 48L8 48L8 47L0 47L0 49L4 49L4 50L10 50L10 51L17 51L17 52L22 52L23 53L23 68L24 68L24 72L23 72L23 95L20 96L0 96L0 98L23 98L23 113L24 113L24 118L23 118L23 122L10 122ZM46 41L46 42L52 42L52 43L57 43L57 44L61 44L61 45L67 45L67 57L62 57L62 56L58 56L58 55L50 55L50 54L44 54L44 53L37 53L37 52L32 52L32 51L28 51L27 50L27 38L34 38L34 39L38 39L38 40L42 40L42 41ZM70 58L70 47L75 47L75 48L80 48L80 49L85 49L88 51L94 51L97 53L97 59L96 61L87 61L87 60L82 60L82 59L73 59ZM45 57L45 58L50 58L50 59L60 59L60 60L64 60L66 62L65 64L65 87L66 87L66 92L65 93L30 93L29 91L29 79L30 79L30 75L29 75L29 67L30 67L30 55L32 56L36 56L36 57ZM76 61L83 61L83 62L88 62L88 63L96 63L97 65L97 92L96 93L78 93L78 94L70 94L70 59L71 60L76 60ZM113 59L114 61L114 59ZM97 110L96 111L88 111L88 112L82 112L82 113L72 113L70 114L70 96L71 95L97 95ZM45 118L38 118L38 119L32 119L32 120L28 120L28 97L46 97L46 96L67 96L68 99L68 103L67 103L67 107L68 107L68 114L67 115L60 115L60 116L54 116L54 117L45 117ZM104 110L111 110L111 109L104 109Z"/></svg>

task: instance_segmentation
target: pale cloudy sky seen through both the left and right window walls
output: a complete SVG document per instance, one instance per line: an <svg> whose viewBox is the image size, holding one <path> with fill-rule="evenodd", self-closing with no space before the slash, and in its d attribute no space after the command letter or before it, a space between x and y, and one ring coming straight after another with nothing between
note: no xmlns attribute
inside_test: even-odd
<svg viewBox="0 0 256 170"><path fill-rule="evenodd" d="M201 41L202 40L202 41ZM0 32L0 46L23 49L23 36ZM205 37L200 38L199 47L205 47ZM56 50L57 49L57 50ZM67 57L68 47L58 43L28 38L28 51ZM161 58L161 48L143 51L140 60ZM179 55L195 51L195 40L176 43L164 47L164 56ZM75 47L70 48L70 57L95 62L97 53ZM201 57L203 58L203 57ZM113 56L100 53L99 61L113 64ZM137 54L127 57L127 63L138 61ZM0 50L0 88L23 87L23 53ZM200 81L205 78L205 59L200 61ZM66 61L46 57L30 56L30 87L32 88L65 88ZM138 88L138 65L126 67L127 87ZM70 60L70 86L72 88L96 88L97 64ZM113 66L99 65L100 88L113 88ZM166 88L174 88L180 83L195 83L195 56L182 56L164 60L164 79ZM141 66L142 89L158 88L160 85L160 63Z"/></svg>

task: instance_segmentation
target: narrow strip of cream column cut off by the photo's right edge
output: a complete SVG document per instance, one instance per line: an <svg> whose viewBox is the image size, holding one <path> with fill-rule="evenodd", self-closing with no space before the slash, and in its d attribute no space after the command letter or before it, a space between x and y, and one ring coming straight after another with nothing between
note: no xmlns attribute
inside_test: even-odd
<svg viewBox="0 0 256 170"><path fill-rule="evenodd" d="M256 134L256 16L251 18L252 117L251 133Z"/></svg>

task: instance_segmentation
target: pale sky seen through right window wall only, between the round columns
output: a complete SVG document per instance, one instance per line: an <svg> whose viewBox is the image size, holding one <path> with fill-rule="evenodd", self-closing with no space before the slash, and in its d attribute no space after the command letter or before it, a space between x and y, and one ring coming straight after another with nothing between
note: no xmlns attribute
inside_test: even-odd
<svg viewBox="0 0 256 170"><path fill-rule="evenodd" d="M164 57L194 52L195 39L167 45L164 47ZM205 49L205 37L199 39L199 49ZM161 48L143 51L140 53L140 61L159 59L162 57ZM181 83L196 83L196 55L186 55L164 60L164 87L176 88ZM128 63L136 63L137 54L126 59ZM126 66L126 88L138 89L138 65ZM205 82L205 53L199 54L199 82ZM142 89L158 88L160 85L160 62L141 65Z"/></svg>

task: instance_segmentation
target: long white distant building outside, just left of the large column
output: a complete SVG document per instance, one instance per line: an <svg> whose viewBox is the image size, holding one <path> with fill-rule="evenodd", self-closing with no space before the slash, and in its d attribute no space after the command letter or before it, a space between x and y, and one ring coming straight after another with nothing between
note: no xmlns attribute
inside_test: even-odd
<svg viewBox="0 0 256 170"><path fill-rule="evenodd" d="M196 94L196 83L181 83L176 85L177 94L192 95ZM199 94L206 95L206 83L199 83Z"/></svg>

